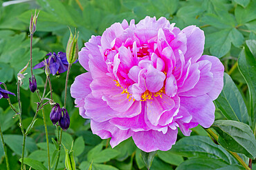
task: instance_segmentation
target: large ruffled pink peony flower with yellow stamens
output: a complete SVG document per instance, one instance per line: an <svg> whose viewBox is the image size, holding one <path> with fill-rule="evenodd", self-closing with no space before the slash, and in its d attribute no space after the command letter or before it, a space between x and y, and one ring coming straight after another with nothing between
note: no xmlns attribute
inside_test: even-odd
<svg viewBox="0 0 256 170"><path fill-rule="evenodd" d="M71 96L93 134L111 138L111 147L132 136L143 151L167 151L178 127L185 136L210 127L224 69L201 56L204 42L195 25L180 30L164 17L124 20L92 36L79 52L88 72L75 78Z"/></svg>

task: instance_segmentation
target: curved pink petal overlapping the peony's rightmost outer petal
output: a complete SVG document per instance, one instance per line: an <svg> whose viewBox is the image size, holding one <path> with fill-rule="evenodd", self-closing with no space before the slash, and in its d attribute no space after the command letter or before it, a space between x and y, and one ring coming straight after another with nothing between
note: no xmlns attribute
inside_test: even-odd
<svg viewBox="0 0 256 170"><path fill-rule="evenodd" d="M213 74L210 72L212 63L210 61L199 61L197 63L199 64L200 70L199 81L192 89L180 93L179 96L201 96L207 94L212 89L214 85Z"/></svg>

